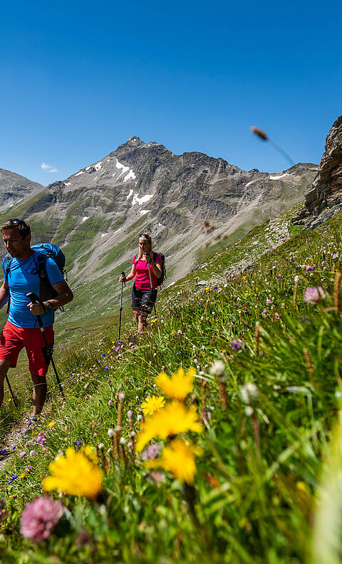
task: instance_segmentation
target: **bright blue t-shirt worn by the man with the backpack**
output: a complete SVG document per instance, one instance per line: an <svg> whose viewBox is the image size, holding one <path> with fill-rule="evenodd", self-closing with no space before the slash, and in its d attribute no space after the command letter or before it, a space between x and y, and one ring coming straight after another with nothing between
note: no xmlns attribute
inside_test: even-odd
<svg viewBox="0 0 342 564"><path fill-rule="evenodd" d="M38 253L33 251L24 261L19 261L14 257L11 258L8 275L6 275L7 261L4 260L2 263L2 269L9 284L9 294L11 296L9 321L21 328L38 327L37 316L33 316L33 313L27 307L30 300L26 298L26 293L28 292L34 292L39 296L40 278L33 259L33 256L37 255ZM51 284L56 284L64 279L55 261L50 257L46 259L46 273ZM44 327L53 325L54 319L55 313L53 310L45 311L41 314Z"/></svg>

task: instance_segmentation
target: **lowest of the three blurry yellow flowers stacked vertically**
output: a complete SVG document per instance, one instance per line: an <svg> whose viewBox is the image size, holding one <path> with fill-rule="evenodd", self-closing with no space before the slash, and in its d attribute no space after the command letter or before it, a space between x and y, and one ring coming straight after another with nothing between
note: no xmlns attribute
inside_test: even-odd
<svg viewBox="0 0 342 564"><path fill-rule="evenodd" d="M202 448L188 445L184 440L175 438L165 446L161 458L147 460L147 468L162 467L169 470L181 482L194 483L196 473L195 456L202 454Z"/></svg>

